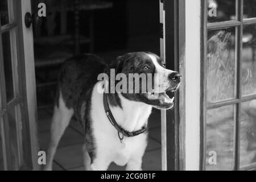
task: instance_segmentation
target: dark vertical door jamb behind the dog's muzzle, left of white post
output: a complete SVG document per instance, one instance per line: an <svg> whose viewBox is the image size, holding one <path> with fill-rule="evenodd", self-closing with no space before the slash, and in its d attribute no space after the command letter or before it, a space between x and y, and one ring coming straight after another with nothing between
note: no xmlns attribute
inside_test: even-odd
<svg viewBox="0 0 256 182"><path fill-rule="evenodd" d="M160 56L182 75L175 106L161 111L162 170L185 169L185 0L160 0Z"/></svg>

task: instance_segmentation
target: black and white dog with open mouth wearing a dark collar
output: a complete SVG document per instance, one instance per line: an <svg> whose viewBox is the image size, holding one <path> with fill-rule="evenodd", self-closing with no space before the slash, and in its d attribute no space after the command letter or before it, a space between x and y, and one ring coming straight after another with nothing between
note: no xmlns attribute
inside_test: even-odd
<svg viewBox="0 0 256 182"><path fill-rule="evenodd" d="M109 75L110 69L115 69L115 75L157 73L152 79L154 87L146 93L106 93L108 85L97 77L100 73ZM150 52L127 53L117 57L110 66L94 55L65 61L60 69L44 169L52 169L57 144L75 115L85 133L85 169L106 170L114 162L119 166L127 164L127 170L141 170L147 146L147 120L152 107L170 109L174 106L174 98L168 97L166 92L177 90L180 81L179 73L164 68L163 60ZM141 86L139 84L139 88ZM157 97L152 97L153 94Z"/></svg>

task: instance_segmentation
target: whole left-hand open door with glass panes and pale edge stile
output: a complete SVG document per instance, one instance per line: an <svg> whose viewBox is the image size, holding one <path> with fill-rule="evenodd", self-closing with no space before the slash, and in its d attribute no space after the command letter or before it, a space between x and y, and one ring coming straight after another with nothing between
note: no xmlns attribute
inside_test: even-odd
<svg viewBox="0 0 256 182"><path fill-rule="evenodd" d="M0 2L0 169L36 169L36 92L30 0Z"/></svg>

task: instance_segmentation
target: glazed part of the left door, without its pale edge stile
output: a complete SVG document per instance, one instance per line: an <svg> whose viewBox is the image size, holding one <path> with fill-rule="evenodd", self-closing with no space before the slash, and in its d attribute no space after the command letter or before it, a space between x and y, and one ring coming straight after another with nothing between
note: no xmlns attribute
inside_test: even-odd
<svg viewBox="0 0 256 182"><path fill-rule="evenodd" d="M0 170L32 168L20 14L0 1Z"/></svg>

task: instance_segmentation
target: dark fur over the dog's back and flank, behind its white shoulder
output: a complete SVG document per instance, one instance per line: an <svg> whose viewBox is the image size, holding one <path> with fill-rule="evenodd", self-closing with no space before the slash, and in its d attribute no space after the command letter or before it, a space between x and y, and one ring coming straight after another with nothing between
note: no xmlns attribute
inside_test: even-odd
<svg viewBox="0 0 256 182"><path fill-rule="evenodd" d="M86 148L92 162L95 158L92 119L90 118L92 89L97 83L97 76L103 73L106 68L108 65L99 57L87 54L66 60L59 73L56 101L59 100L59 93L61 92L65 105L68 109L73 108L75 111L76 119L84 128ZM83 103L86 107L82 107ZM56 105L58 106L58 102ZM81 113L84 113L84 116L81 117Z"/></svg>

